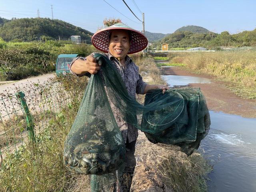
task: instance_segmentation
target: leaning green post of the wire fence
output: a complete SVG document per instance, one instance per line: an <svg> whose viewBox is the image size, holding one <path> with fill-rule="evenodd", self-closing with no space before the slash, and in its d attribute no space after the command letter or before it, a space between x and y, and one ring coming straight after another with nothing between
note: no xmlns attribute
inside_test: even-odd
<svg viewBox="0 0 256 192"><path fill-rule="evenodd" d="M35 141L35 132L34 132L34 122L32 119L32 115L28 109L28 105L26 103L25 94L20 91L16 93L17 98L20 100L21 107L23 109L24 115L26 116L27 122L27 131L28 131L28 138L30 141Z"/></svg>

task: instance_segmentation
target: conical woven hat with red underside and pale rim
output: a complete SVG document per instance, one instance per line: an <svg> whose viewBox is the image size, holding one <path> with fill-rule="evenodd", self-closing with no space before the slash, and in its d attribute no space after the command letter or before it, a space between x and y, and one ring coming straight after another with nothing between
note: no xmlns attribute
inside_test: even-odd
<svg viewBox="0 0 256 192"><path fill-rule="evenodd" d="M133 54L144 50L148 46L148 39L143 33L132 28L124 27L108 27L97 31L92 36L92 44L95 48L102 52L109 51L109 34L111 30L123 29L131 32L132 40L130 41L130 49L128 54Z"/></svg>

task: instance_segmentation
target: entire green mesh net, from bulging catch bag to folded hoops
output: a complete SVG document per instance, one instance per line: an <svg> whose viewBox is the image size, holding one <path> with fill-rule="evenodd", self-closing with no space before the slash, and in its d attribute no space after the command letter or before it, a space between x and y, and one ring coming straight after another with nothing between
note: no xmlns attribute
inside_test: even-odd
<svg viewBox="0 0 256 192"><path fill-rule="evenodd" d="M188 155L198 148L210 129L206 100L199 88L170 89L165 94L150 90L141 105L128 95L112 62L102 54L94 57L102 63L102 77L91 76L64 146L66 167L93 174L92 191L116 188L125 166L126 149L110 102L123 120L143 131L151 142ZM142 115L140 125L138 114Z"/></svg>

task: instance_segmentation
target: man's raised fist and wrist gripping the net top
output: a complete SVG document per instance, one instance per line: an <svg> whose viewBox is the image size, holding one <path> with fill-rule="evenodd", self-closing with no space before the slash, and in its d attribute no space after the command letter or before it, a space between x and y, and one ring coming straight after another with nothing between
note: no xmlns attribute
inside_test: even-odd
<svg viewBox="0 0 256 192"><path fill-rule="evenodd" d="M87 56L86 60L78 59L71 66L71 70L79 75L85 74L86 72L96 74L99 69L100 65L93 56Z"/></svg>

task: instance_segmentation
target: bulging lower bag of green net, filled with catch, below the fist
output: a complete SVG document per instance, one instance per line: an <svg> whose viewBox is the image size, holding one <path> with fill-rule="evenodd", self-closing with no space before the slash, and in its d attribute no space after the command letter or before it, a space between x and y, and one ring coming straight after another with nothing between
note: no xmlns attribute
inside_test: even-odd
<svg viewBox="0 0 256 192"><path fill-rule="evenodd" d="M66 138L64 164L82 174L111 173L122 164L125 151L102 80L94 75Z"/></svg>

